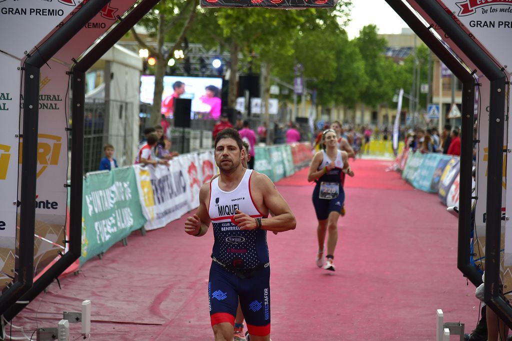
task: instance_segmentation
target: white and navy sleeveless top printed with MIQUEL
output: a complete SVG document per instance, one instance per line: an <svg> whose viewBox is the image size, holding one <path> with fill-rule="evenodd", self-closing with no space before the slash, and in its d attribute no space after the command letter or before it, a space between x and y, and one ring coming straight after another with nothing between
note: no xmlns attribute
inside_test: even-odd
<svg viewBox="0 0 512 341"><path fill-rule="evenodd" d="M219 178L210 182L208 215L214 228L212 255L222 264L250 269L268 262L267 231L263 229L240 230L233 223L235 210L252 218L262 217L252 201L250 179L252 169L246 169L237 188L224 191L219 188Z"/></svg>

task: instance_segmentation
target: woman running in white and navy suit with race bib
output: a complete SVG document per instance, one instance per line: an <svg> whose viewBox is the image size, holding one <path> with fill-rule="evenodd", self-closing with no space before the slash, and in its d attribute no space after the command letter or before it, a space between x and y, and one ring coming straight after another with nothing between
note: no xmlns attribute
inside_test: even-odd
<svg viewBox="0 0 512 341"><path fill-rule="evenodd" d="M316 266L334 271L334 249L338 240L338 218L345 201L342 174L353 177L348 154L337 148L337 134L328 129L322 134L323 150L316 153L309 166L308 181L316 182L313 189L313 206L318 219L318 253ZM327 255L324 265L324 242L327 238Z"/></svg>

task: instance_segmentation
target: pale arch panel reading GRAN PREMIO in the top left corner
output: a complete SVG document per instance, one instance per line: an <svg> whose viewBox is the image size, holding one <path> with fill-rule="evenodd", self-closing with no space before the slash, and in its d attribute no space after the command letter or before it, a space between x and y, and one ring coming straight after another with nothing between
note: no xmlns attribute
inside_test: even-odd
<svg viewBox="0 0 512 341"><path fill-rule="evenodd" d="M10 32L6 31L0 35L2 50L17 58L23 58L25 53L30 52L42 38L57 27L78 3L76 0L0 1L2 27L9 28ZM23 38L18 34L20 32L23 32Z"/></svg>

